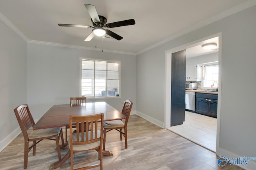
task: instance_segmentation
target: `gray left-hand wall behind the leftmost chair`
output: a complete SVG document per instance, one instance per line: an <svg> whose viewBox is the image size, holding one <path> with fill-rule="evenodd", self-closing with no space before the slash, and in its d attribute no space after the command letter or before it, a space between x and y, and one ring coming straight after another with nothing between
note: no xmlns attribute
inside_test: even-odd
<svg viewBox="0 0 256 170"><path fill-rule="evenodd" d="M0 20L0 150L20 131L13 109L27 102L27 43Z"/></svg>

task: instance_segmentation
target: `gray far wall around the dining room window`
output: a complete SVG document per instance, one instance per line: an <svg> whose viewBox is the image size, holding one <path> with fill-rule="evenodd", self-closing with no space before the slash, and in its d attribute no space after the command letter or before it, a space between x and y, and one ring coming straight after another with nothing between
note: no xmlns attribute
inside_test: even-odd
<svg viewBox="0 0 256 170"><path fill-rule="evenodd" d="M131 98L136 110L136 56L28 43L28 104L34 119L52 105L69 104L70 97L79 96L80 57L121 61L121 98L88 102L104 101L122 111L124 100Z"/></svg>

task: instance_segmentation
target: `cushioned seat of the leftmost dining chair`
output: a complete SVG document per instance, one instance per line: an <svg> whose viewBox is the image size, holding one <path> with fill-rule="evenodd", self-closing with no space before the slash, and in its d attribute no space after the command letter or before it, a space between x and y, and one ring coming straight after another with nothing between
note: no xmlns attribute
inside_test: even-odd
<svg viewBox="0 0 256 170"><path fill-rule="evenodd" d="M54 135L58 135L60 133L61 127L47 128L47 129L37 129L32 131L28 136L29 139L37 139L50 137Z"/></svg>

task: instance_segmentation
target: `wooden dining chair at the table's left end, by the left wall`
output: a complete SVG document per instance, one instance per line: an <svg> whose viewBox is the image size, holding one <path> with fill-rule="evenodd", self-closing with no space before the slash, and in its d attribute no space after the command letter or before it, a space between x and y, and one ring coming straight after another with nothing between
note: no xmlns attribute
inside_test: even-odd
<svg viewBox="0 0 256 170"><path fill-rule="evenodd" d="M27 104L20 105L14 109L14 113L17 117L20 129L24 136L24 169L28 166L28 152L33 148L33 155L36 154L36 144L43 139L50 139L56 141L58 158L61 159L59 140L62 141L62 149L64 149L64 139L62 133L62 127L37 129L28 134L28 129L35 125L34 119L30 113ZM55 138L55 139L51 139ZM29 147L29 142L33 141L33 144ZM36 142L37 141L37 142Z"/></svg>

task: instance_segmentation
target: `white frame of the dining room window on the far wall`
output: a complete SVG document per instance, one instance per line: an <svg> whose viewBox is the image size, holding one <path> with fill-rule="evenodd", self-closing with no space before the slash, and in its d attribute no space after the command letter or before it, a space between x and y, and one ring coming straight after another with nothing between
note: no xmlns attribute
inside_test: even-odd
<svg viewBox="0 0 256 170"><path fill-rule="evenodd" d="M114 61L114 60L104 60L104 59L92 59L92 58L84 58L84 57L81 57L80 58L80 62L79 62L79 65L80 65L80 69L79 69L79 72L80 72L80 76L79 76L79 93L80 93L80 96L82 96L82 61L83 60L91 60L91 61L103 61L103 62L107 62L107 63L118 63L118 95L119 96L95 96L95 90L94 90L94 96L85 96L87 98L91 98L91 99L99 99L99 98L121 98L121 95L120 95L120 91L121 91L121 87L120 87L120 84L121 84L121 61ZM95 67L94 67L94 74L95 74ZM108 80L108 77L106 77L106 80ZM95 83L95 77L94 77L94 83ZM94 87L95 88L95 87ZM107 83L106 83L106 92L107 92Z"/></svg>

